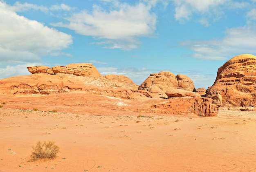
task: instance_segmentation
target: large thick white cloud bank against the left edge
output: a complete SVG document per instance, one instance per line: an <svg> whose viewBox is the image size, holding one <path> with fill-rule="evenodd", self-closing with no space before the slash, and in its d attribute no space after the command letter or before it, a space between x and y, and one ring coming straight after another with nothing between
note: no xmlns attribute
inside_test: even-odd
<svg viewBox="0 0 256 172"><path fill-rule="evenodd" d="M60 53L72 44L72 36L17 15L0 2L1 62L40 62L40 56Z"/></svg>

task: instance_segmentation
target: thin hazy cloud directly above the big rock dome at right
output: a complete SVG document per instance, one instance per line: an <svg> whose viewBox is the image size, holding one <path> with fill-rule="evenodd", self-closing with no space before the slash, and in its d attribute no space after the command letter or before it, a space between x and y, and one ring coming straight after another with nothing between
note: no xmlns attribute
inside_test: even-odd
<svg viewBox="0 0 256 172"><path fill-rule="evenodd" d="M187 46L198 59L227 60L239 54L256 54L256 27L243 26L227 29L220 40L188 40L180 45Z"/></svg>

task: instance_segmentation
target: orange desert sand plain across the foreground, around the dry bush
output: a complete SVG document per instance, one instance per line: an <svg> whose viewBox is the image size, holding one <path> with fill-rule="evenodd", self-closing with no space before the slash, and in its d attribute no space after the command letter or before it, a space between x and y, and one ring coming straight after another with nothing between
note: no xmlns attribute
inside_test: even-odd
<svg viewBox="0 0 256 172"><path fill-rule="evenodd" d="M129 110L133 101L74 94L1 96L0 172L256 171L255 111L150 114ZM30 162L36 142L48 140L58 157Z"/></svg>

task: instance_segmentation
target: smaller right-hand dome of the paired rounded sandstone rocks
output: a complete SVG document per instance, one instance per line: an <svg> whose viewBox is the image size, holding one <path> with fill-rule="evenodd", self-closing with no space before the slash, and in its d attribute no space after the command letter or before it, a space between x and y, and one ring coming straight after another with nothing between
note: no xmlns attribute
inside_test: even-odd
<svg viewBox="0 0 256 172"><path fill-rule="evenodd" d="M178 81L178 89L188 90L195 92L195 86L193 81L186 75L178 74L176 75Z"/></svg>

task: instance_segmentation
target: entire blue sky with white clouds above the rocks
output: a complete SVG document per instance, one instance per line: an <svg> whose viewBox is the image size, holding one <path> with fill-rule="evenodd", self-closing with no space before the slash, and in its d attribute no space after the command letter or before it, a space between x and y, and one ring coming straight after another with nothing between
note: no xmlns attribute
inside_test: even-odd
<svg viewBox="0 0 256 172"><path fill-rule="evenodd" d="M136 84L170 71L208 88L255 52L256 0L0 0L0 78L89 62Z"/></svg>

